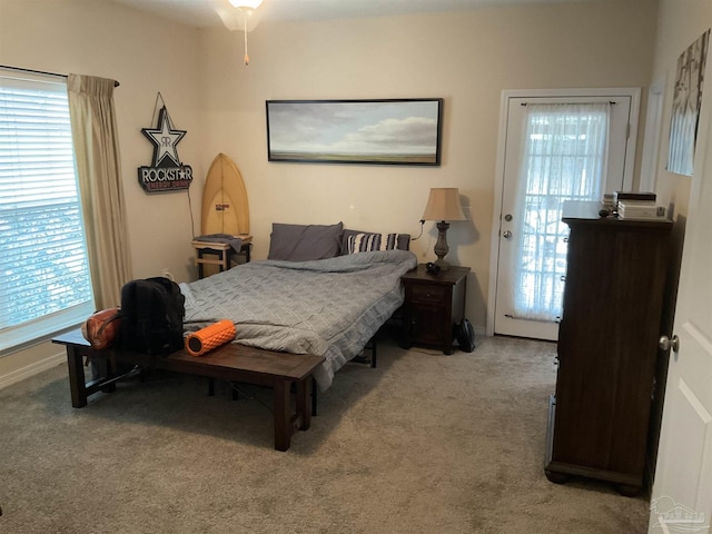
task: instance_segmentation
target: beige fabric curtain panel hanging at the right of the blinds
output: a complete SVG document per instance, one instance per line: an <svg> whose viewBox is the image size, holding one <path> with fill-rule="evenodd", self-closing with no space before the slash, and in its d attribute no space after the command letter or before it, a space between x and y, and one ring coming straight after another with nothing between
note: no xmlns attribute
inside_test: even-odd
<svg viewBox="0 0 712 534"><path fill-rule="evenodd" d="M69 112L87 234L89 270L98 309L117 306L131 279L121 184L115 81L69 75Z"/></svg>

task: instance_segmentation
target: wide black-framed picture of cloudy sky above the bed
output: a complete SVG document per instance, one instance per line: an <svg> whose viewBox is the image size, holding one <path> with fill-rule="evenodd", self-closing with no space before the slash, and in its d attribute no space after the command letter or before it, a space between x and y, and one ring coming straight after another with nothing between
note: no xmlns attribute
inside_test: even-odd
<svg viewBox="0 0 712 534"><path fill-rule="evenodd" d="M269 161L441 165L443 99L267 100Z"/></svg>

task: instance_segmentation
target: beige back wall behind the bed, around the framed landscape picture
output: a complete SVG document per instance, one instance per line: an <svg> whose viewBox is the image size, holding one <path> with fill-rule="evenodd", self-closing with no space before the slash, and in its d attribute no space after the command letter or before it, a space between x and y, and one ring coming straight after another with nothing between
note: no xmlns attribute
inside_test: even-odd
<svg viewBox="0 0 712 534"><path fill-rule="evenodd" d="M654 1L261 23L249 34L247 68L240 32L202 31L204 161L224 151L243 171L258 258L274 221L417 235L429 188L458 187L473 224L451 226L448 259L473 268L467 316L484 330L502 90L642 87L645 95L655 24ZM442 167L267 161L266 99L409 97L445 99ZM427 222L413 243L418 259L434 259L435 238Z"/></svg>

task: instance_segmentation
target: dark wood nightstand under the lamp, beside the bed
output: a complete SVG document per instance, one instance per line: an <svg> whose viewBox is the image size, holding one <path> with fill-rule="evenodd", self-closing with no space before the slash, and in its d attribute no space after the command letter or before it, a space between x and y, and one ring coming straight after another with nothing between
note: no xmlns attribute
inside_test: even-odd
<svg viewBox="0 0 712 534"><path fill-rule="evenodd" d="M453 329L465 316L468 273L469 267L451 266L432 275L421 264L400 277L405 287L405 348L418 345L453 354Z"/></svg>

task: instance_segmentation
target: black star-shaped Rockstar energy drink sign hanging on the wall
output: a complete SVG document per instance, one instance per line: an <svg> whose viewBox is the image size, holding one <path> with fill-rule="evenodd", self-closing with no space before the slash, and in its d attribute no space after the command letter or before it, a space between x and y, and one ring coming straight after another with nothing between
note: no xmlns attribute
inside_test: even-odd
<svg viewBox="0 0 712 534"><path fill-rule="evenodd" d="M176 150L186 131L171 127L166 106L160 108L156 128L144 128L141 132L154 144L151 167L138 168L138 182L144 190L161 192L188 189L192 181L192 169L180 162Z"/></svg>

